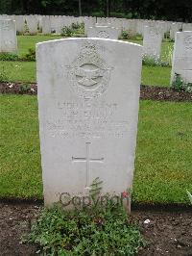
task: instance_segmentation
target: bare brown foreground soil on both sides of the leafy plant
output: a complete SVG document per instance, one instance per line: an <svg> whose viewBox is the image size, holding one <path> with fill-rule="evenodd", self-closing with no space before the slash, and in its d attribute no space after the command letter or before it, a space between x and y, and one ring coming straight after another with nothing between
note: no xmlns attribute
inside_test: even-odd
<svg viewBox="0 0 192 256"><path fill-rule="evenodd" d="M0 202L0 255L36 255L38 248L20 243L23 234L30 231L42 205L36 203ZM135 208L135 207L134 207ZM144 223L147 220L149 223ZM132 210L148 245L139 256L192 255L192 211ZM146 221L145 221L146 222Z"/></svg>

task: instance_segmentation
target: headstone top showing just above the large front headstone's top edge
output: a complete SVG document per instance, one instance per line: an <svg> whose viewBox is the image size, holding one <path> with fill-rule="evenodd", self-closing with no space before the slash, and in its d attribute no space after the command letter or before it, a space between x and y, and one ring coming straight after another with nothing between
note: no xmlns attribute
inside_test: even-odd
<svg viewBox="0 0 192 256"><path fill-rule="evenodd" d="M121 36L121 29L109 26L95 26L87 30L87 38L109 38L118 39Z"/></svg>

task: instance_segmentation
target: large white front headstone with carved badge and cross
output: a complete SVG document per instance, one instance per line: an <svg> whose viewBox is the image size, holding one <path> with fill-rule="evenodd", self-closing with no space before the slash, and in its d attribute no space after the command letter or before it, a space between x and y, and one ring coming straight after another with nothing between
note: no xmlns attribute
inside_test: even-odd
<svg viewBox="0 0 192 256"><path fill-rule="evenodd" d="M67 38L36 47L45 205L60 194L132 188L142 46Z"/></svg>

